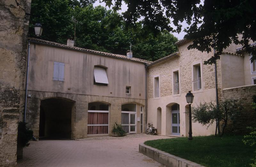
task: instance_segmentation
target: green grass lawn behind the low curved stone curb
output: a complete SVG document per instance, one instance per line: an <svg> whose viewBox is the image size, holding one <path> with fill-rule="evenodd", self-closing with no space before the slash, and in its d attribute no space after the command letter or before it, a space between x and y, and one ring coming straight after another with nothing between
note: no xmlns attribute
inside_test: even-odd
<svg viewBox="0 0 256 167"><path fill-rule="evenodd" d="M243 136L198 136L146 141L144 144L207 167L249 166L255 147L244 145Z"/></svg>

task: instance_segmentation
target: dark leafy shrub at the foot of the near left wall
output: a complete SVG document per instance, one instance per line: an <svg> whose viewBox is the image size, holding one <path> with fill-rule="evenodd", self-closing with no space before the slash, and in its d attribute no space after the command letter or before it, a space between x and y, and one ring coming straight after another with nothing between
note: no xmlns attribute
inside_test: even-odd
<svg viewBox="0 0 256 167"><path fill-rule="evenodd" d="M33 131L29 130L26 124L26 122L19 122L18 124L17 159L22 159L23 148L28 147L28 141L33 137Z"/></svg>

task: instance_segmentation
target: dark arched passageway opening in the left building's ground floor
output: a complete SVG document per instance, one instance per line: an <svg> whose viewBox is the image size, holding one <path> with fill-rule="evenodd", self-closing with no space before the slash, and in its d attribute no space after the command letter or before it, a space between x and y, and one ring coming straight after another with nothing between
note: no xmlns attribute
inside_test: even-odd
<svg viewBox="0 0 256 167"><path fill-rule="evenodd" d="M39 138L71 139L71 115L75 102L64 98L41 100Z"/></svg>

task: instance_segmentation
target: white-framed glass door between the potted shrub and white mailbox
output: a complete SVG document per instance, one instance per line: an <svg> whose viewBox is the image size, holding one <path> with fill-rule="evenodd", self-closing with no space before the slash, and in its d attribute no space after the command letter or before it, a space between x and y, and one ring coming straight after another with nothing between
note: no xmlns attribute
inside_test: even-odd
<svg viewBox="0 0 256 167"><path fill-rule="evenodd" d="M126 133L136 133L136 113L122 111L121 124Z"/></svg>

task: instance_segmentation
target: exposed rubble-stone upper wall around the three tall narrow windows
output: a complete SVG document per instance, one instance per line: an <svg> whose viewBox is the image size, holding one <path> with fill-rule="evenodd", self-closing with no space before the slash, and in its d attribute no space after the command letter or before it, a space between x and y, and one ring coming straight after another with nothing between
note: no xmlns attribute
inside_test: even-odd
<svg viewBox="0 0 256 167"><path fill-rule="evenodd" d="M203 90L215 88L214 64L204 65L204 61L208 60L213 53L207 54L196 49L188 50L190 43L179 47L180 56L170 58L161 63L148 67L148 98L153 98L154 92L154 76L159 75L160 80L160 97L172 95L172 70L180 68L180 84L181 93L192 91L192 63L202 62L203 69ZM220 70L220 61L217 61L217 71ZM221 73L218 73L218 88L221 90ZM220 92L220 91L219 91Z"/></svg>

